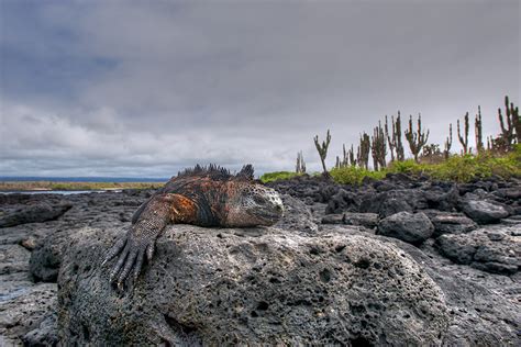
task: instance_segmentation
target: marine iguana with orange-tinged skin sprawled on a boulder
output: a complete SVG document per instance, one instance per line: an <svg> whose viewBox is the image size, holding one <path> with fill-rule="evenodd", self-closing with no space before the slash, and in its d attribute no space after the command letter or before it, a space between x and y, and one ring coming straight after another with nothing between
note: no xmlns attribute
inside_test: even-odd
<svg viewBox="0 0 521 347"><path fill-rule="evenodd" d="M109 250L103 265L119 255L110 272L110 282L122 287L133 272L137 279L146 255L154 255L157 237L169 224L247 227L273 225L282 215L278 193L254 181L253 166L245 165L236 175L210 165L186 169L173 177L143 203L132 216L126 236Z"/></svg>

